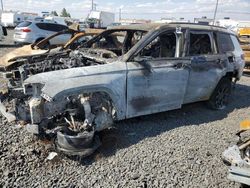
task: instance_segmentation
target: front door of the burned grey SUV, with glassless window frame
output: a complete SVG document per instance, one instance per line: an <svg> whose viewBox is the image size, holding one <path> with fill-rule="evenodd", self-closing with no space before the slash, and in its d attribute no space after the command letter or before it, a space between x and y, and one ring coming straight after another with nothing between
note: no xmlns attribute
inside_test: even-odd
<svg viewBox="0 0 250 188"><path fill-rule="evenodd" d="M178 57L178 36L166 31L127 62L127 117L180 108L189 76L189 59Z"/></svg>

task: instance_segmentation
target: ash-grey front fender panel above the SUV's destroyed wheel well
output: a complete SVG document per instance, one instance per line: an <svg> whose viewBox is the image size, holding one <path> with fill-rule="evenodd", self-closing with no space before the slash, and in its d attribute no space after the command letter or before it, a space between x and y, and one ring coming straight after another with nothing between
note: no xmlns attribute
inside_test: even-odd
<svg viewBox="0 0 250 188"><path fill-rule="evenodd" d="M30 85L32 87L38 86L42 96L50 101L55 96L65 95L78 89L101 88L104 85L111 84L113 80L125 77L125 73L126 63L124 62L72 68L31 76L25 80L24 88L26 90Z"/></svg>

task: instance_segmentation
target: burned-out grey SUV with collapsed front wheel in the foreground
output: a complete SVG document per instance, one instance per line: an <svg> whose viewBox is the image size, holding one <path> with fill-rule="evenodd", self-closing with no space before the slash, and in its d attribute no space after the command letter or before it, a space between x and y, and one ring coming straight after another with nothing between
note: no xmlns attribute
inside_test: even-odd
<svg viewBox="0 0 250 188"><path fill-rule="evenodd" d="M30 132L60 127L58 145L67 151L86 148L113 121L197 101L224 109L245 64L234 33L183 23L114 27L72 53L91 66L30 76L23 84L30 97L17 111Z"/></svg>

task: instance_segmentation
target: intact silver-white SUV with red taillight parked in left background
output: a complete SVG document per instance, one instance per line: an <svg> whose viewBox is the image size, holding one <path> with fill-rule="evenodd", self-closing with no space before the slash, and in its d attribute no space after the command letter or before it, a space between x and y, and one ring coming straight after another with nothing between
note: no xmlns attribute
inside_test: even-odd
<svg viewBox="0 0 250 188"><path fill-rule="evenodd" d="M57 23L25 21L15 28L14 43L32 44L66 29L67 26ZM50 40L49 45L62 45L70 38L70 34L59 35Z"/></svg>

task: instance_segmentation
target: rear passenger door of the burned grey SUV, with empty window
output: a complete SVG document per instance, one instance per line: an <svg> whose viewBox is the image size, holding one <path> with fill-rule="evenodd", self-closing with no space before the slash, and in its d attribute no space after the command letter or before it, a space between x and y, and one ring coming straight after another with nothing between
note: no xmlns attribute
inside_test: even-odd
<svg viewBox="0 0 250 188"><path fill-rule="evenodd" d="M184 103L210 98L227 67L227 56L216 52L213 32L191 30L187 33L186 57L192 59Z"/></svg>

